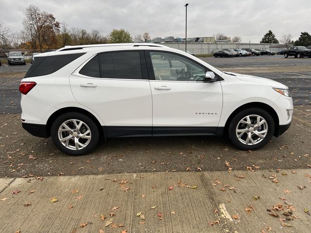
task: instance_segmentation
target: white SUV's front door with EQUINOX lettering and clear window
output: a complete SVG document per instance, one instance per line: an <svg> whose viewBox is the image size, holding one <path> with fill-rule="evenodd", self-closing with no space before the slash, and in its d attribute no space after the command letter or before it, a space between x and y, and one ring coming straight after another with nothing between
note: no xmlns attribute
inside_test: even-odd
<svg viewBox="0 0 311 233"><path fill-rule="evenodd" d="M221 83L205 83L209 70L182 55L149 51L146 58L154 79L153 135L214 134L223 106Z"/></svg>

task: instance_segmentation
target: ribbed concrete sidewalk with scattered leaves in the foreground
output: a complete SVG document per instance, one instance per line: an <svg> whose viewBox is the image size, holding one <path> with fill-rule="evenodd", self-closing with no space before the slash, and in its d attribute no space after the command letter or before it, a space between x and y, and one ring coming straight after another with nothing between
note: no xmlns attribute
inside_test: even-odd
<svg viewBox="0 0 311 233"><path fill-rule="evenodd" d="M311 170L252 169L4 178L0 232L310 232Z"/></svg>

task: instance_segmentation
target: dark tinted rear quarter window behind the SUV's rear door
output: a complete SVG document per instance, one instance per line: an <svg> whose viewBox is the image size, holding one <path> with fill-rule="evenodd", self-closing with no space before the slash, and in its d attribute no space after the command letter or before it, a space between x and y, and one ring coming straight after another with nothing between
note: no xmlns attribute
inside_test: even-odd
<svg viewBox="0 0 311 233"><path fill-rule="evenodd" d="M35 57L34 64L28 69L25 78L52 74L84 54L85 53L73 53Z"/></svg>

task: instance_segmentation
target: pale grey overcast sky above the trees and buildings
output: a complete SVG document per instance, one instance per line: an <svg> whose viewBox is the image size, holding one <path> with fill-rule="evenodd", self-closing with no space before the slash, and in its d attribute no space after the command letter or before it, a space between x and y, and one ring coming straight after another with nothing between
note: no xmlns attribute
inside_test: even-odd
<svg viewBox="0 0 311 233"><path fill-rule="evenodd" d="M107 35L124 28L132 36L185 37L185 3L188 37L218 32L258 43L272 30L279 39L291 33L311 33L311 0L0 0L0 20L12 31L21 31L25 8L34 4L70 27Z"/></svg>

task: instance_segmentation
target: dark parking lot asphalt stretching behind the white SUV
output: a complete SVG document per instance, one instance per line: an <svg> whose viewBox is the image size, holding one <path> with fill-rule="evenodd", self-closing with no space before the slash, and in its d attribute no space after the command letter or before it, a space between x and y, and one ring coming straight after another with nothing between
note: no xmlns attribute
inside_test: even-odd
<svg viewBox="0 0 311 233"><path fill-rule="evenodd" d="M275 56L234 58L202 57L203 61L222 71L251 74L276 80L290 88L295 105L311 104L311 59ZM0 114L21 113L19 81L30 67L0 67Z"/></svg>

